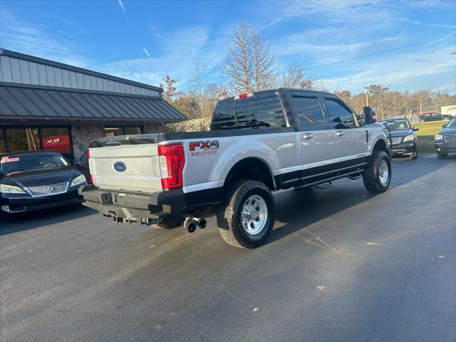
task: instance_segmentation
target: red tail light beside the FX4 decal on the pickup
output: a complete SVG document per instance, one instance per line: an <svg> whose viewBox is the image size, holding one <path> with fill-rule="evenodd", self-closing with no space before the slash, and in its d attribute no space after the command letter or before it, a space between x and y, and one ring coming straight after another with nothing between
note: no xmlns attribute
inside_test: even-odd
<svg viewBox="0 0 456 342"><path fill-rule="evenodd" d="M182 144L158 145L160 175L163 190L182 187L182 170L185 164Z"/></svg>

